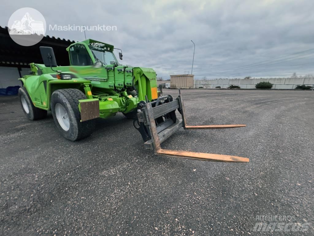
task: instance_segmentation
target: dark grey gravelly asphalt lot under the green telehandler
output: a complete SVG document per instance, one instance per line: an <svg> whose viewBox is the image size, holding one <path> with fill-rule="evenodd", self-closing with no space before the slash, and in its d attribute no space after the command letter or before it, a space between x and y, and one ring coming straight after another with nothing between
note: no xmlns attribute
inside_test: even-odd
<svg viewBox="0 0 314 236"><path fill-rule="evenodd" d="M0 235L313 235L314 92L182 94L191 125L247 126L181 129L162 148L249 163L155 156L122 114L71 142L51 113L29 121L17 97L0 97ZM310 227L254 232L259 215Z"/></svg>

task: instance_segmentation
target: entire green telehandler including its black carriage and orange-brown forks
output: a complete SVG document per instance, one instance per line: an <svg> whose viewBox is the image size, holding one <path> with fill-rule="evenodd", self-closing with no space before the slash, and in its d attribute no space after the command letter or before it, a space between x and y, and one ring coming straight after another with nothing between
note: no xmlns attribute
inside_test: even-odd
<svg viewBox="0 0 314 236"><path fill-rule="evenodd" d="M70 65L58 66L51 47L40 47L44 64L30 63L31 75L19 78L19 99L30 120L43 119L51 110L61 134L72 141L88 137L95 129L96 118L108 118L122 112L134 119L133 125L156 155L197 160L248 162L249 159L165 150L160 143L176 130L222 129L245 125L188 126L181 94L176 98L158 94L156 72L150 68L118 63L114 46L87 39L67 49ZM119 49L121 50L121 49ZM119 53L122 60L122 51ZM176 118L176 110L182 120Z"/></svg>

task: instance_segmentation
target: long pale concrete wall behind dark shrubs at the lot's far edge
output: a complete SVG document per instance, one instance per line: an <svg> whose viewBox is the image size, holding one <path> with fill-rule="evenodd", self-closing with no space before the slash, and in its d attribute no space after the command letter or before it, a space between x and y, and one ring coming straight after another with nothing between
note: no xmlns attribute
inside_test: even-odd
<svg viewBox="0 0 314 236"><path fill-rule="evenodd" d="M270 78L270 79L230 79L230 80L194 80L194 88L227 88L229 85L238 85L241 88L252 89L262 81L269 81L275 89L294 89L297 85L311 85L314 87L314 78Z"/></svg>

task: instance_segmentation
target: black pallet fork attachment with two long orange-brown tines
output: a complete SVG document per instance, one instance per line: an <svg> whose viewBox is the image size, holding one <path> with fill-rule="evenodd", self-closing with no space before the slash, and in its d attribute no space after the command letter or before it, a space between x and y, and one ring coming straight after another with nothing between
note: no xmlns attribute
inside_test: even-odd
<svg viewBox="0 0 314 236"><path fill-rule="evenodd" d="M175 111L178 109L182 120L176 118ZM167 150L160 147L174 132L183 127L184 129L226 129L244 127L246 125L205 125L189 126L185 118L185 109L182 95L174 100L171 95L162 96L156 100L139 104L138 119L134 121L134 127L141 133L146 149L154 149L156 155L171 156L186 159L220 161L220 162L249 162L248 158L219 155L210 153L188 152ZM136 125L137 122L137 125Z"/></svg>

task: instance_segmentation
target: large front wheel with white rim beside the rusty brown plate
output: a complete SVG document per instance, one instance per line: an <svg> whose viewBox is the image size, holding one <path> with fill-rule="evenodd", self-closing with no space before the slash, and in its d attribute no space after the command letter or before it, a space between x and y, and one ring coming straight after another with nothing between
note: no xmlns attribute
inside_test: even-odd
<svg viewBox="0 0 314 236"><path fill-rule="evenodd" d="M53 120L62 135L72 141L86 138L95 129L95 120L81 122L78 100L86 99L85 94L74 88L58 89L51 95Z"/></svg>

